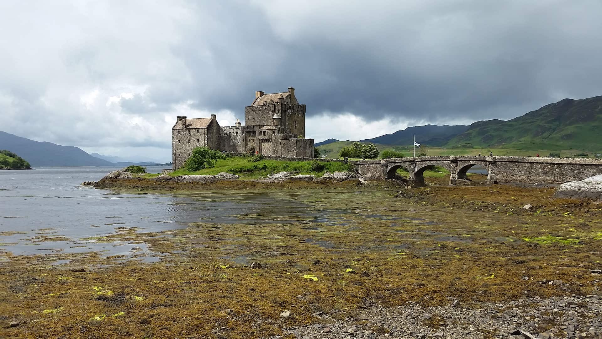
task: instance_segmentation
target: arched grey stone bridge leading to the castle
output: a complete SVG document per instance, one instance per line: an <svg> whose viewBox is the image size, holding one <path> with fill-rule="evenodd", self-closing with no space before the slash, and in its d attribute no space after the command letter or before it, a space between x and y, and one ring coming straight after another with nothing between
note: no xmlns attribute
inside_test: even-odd
<svg viewBox="0 0 602 339"><path fill-rule="evenodd" d="M468 180L467 171L473 166L485 168L488 183L527 182L563 183L583 180L602 174L602 159L569 159L553 157L485 157L485 156L426 156L380 160L353 161L359 173L393 178L399 168L409 173L412 187L424 186L424 171L430 166L441 166L450 174L450 184L459 179Z"/></svg>

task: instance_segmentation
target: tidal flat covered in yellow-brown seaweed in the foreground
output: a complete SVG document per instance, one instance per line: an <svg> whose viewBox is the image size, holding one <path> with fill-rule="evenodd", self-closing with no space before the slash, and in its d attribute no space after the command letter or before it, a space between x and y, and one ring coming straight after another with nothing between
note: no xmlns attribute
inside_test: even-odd
<svg viewBox="0 0 602 339"><path fill-rule="evenodd" d="M270 200L187 227L124 226L78 239L136 245L129 256L2 252L0 335L267 338L316 323L320 312L353 317L366 300L428 307L453 299L470 307L597 289L591 271L602 268L602 205L512 185L427 186L409 198L396 192L232 191L228 200L241 206L247 194ZM28 241L64 241L48 237ZM20 325L9 327L13 321Z"/></svg>

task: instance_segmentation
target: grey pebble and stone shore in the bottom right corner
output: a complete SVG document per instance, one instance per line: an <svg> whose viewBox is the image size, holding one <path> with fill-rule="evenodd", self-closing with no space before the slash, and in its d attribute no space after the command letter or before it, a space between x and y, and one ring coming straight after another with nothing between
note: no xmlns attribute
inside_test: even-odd
<svg viewBox="0 0 602 339"><path fill-rule="evenodd" d="M484 291L483 291L484 292ZM316 325L283 328L300 339L314 338L602 338L602 293L514 302L450 306L364 306L359 314L318 312ZM294 314L290 314L294 317ZM344 316L344 318L341 318ZM277 326L277 325L275 325ZM271 339L281 338L272 337Z"/></svg>

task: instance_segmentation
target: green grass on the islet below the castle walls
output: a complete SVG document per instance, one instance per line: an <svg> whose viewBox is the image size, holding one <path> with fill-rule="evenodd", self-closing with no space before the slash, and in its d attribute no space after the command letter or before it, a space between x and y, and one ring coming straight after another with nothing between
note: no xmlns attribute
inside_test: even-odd
<svg viewBox="0 0 602 339"><path fill-rule="evenodd" d="M258 177L269 176L279 172L293 172L296 174L314 174L322 176L326 172L335 171L350 171L353 166L341 162L326 162L320 160L308 161L285 161L285 160L260 160L253 162L251 157L229 157L228 159L217 160L216 166L213 168L205 168L196 172L190 172L181 168L180 170L170 173L170 176L184 176L187 174L204 174L213 176L220 172L238 174L243 179L257 179ZM312 170L312 162L317 161L323 166L321 170ZM141 177L156 177L158 174L143 174Z"/></svg>

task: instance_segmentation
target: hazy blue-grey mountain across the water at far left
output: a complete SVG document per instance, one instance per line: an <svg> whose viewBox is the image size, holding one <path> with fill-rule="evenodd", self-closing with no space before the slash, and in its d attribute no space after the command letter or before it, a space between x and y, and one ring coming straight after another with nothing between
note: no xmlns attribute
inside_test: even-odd
<svg viewBox="0 0 602 339"><path fill-rule="evenodd" d="M33 167L44 166L113 166L78 147L39 142L0 131L0 150L10 150L27 159Z"/></svg>

